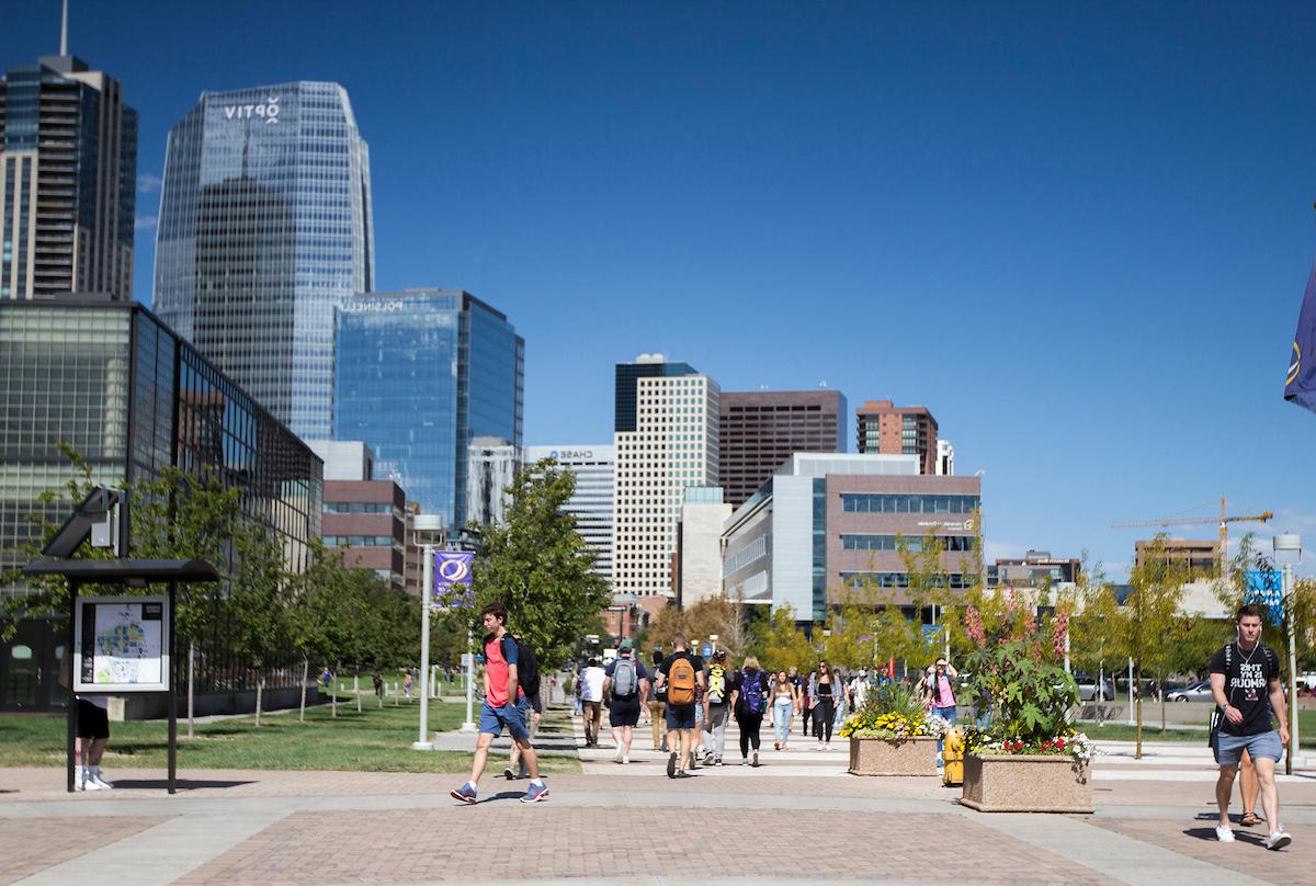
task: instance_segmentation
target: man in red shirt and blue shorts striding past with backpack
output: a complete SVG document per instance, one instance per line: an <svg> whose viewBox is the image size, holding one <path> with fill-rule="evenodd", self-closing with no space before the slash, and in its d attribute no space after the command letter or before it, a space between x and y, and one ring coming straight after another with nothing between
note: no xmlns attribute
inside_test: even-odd
<svg viewBox="0 0 1316 886"><path fill-rule="evenodd" d="M471 779L450 791L453 799L474 803L476 785L488 761L490 745L507 727L512 741L521 749L521 760L530 773L530 787L526 789L522 803L538 803L547 798L549 786L540 778L540 761L530 746L530 735L525 728L525 695L516 673L516 640L507 632L507 610L501 603L490 603L480 613L484 619L484 704L480 707L480 737L475 743L475 758L471 761Z"/></svg>

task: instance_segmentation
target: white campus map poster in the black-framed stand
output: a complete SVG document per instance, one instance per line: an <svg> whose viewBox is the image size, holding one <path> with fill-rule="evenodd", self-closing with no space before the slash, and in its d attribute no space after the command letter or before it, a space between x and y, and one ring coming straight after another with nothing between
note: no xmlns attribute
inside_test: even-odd
<svg viewBox="0 0 1316 886"><path fill-rule="evenodd" d="M79 598L76 619L76 692L168 690L168 598Z"/></svg>

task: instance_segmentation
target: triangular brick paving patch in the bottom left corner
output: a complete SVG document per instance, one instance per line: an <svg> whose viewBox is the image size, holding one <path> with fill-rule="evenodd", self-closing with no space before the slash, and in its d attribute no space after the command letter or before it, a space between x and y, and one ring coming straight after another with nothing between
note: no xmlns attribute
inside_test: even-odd
<svg viewBox="0 0 1316 886"><path fill-rule="evenodd" d="M117 815L79 819L3 820L0 825L0 886L17 883L46 868L118 843L164 821L168 816Z"/></svg>

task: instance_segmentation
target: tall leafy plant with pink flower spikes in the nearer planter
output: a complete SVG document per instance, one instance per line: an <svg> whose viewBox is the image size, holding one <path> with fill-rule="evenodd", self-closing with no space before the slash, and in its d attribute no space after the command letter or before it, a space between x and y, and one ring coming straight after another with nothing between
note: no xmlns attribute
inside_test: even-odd
<svg viewBox="0 0 1316 886"><path fill-rule="evenodd" d="M974 607L966 612L967 633L976 649L966 669L973 673L978 721L965 735L969 753L1092 756L1087 736L1070 724L1079 703L1078 685L1061 666L1069 620L1057 616L1048 636L1032 607L1019 606L1011 590L1007 612L987 632Z"/></svg>

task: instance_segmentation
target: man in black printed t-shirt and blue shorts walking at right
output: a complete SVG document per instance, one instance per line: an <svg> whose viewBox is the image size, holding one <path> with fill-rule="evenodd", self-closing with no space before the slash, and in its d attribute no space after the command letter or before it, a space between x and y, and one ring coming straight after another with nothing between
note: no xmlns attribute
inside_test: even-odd
<svg viewBox="0 0 1316 886"><path fill-rule="evenodd" d="M1279 656L1274 649L1261 645L1261 611L1255 606L1238 610L1237 625L1238 640L1221 648L1211 658L1211 694L1220 711L1220 724L1211 740L1220 765L1220 778L1216 781L1220 824L1216 825L1216 839L1221 843L1234 841L1229 828L1229 798L1238 773L1238 760L1246 748L1257 770L1261 806L1270 825L1266 848L1282 849L1292 843L1292 837L1279 827L1279 791L1275 787L1275 764L1284 756L1283 746L1288 744ZM1278 731L1270 723L1271 711L1279 723Z"/></svg>

